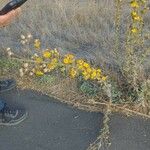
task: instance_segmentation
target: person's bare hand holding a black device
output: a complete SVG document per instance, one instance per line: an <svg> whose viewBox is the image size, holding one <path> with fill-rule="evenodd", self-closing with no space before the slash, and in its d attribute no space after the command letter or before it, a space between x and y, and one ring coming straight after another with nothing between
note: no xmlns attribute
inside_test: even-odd
<svg viewBox="0 0 150 150"><path fill-rule="evenodd" d="M20 11L21 9L18 8L16 10L12 10L6 15L0 16L0 27L4 27L10 24L20 14Z"/></svg>

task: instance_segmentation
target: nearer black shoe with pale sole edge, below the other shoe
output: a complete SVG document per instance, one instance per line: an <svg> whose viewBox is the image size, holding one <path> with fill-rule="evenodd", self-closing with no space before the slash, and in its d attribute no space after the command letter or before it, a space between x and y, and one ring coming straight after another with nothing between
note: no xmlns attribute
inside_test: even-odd
<svg viewBox="0 0 150 150"><path fill-rule="evenodd" d="M27 117L27 112L23 109L10 109L5 107L0 113L0 125L13 126L21 123Z"/></svg>

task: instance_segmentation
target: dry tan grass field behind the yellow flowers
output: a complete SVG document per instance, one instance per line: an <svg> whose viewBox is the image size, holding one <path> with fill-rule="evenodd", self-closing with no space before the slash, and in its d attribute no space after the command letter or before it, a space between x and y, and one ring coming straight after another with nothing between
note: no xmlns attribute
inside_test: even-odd
<svg viewBox="0 0 150 150"><path fill-rule="evenodd" d="M31 32L34 37L41 38L43 48L60 47L63 52L72 51L115 73L119 62L113 57L114 8L113 0L29 0L19 19L0 30L0 41L2 47L9 45L22 52L18 44L20 34ZM120 57L123 56L125 22L129 15L127 2L123 4L122 12ZM150 17L145 19L146 30L149 30Z"/></svg>

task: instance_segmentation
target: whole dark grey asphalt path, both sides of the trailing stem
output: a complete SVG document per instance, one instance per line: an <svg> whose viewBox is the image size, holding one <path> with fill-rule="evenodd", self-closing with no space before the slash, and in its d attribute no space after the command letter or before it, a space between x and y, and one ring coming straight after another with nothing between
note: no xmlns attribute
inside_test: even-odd
<svg viewBox="0 0 150 150"><path fill-rule="evenodd" d="M25 106L29 117L18 126L0 127L0 150L86 150L102 127L101 113L80 111L37 92L1 96ZM113 115L110 129L109 150L150 150L150 120Z"/></svg>

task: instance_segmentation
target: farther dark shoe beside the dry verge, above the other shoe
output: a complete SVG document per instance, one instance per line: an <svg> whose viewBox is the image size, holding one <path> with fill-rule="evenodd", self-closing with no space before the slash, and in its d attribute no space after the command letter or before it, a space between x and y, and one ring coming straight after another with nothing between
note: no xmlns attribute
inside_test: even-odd
<svg viewBox="0 0 150 150"><path fill-rule="evenodd" d="M0 81L0 93L16 87L16 82L12 79Z"/></svg>

